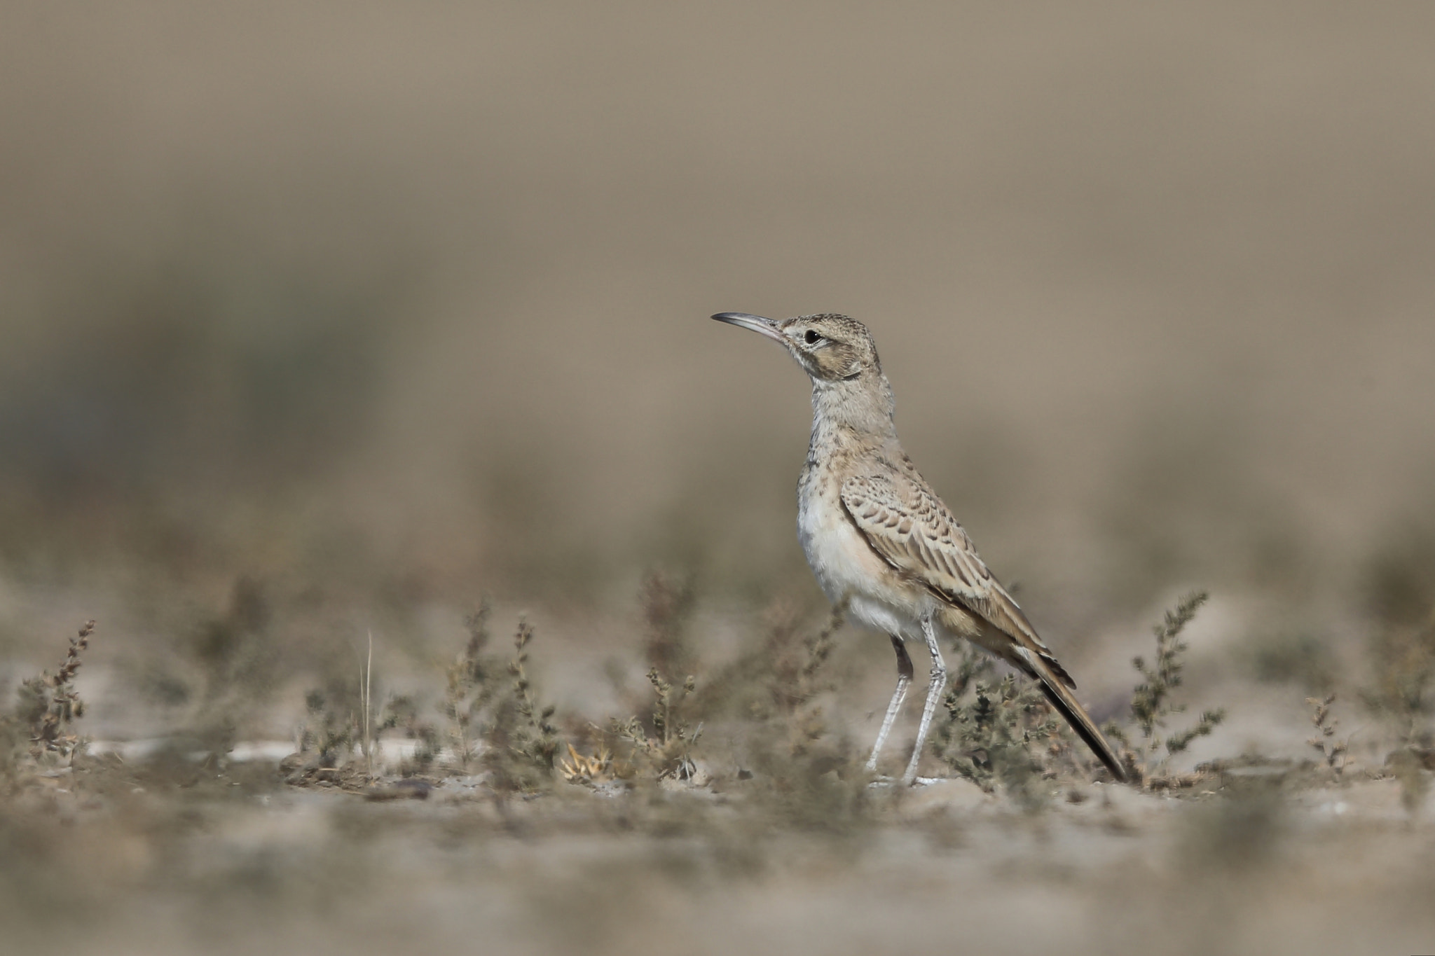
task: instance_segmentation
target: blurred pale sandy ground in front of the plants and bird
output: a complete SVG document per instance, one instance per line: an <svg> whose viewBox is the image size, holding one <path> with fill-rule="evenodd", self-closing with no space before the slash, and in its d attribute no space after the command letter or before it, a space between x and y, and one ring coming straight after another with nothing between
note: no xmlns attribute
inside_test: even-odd
<svg viewBox="0 0 1435 956"><path fill-rule="evenodd" d="M212 770L62 774L7 846L6 952L1429 952L1435 803L1392 780L1182 798L964 781L773 816L742 785L375 803ZM184 771L195 774L194 768ZM198 777L204 777L199 780ZM66 793L72 791L72 793ZM40 850L39 844L44 844Z"/></svg>

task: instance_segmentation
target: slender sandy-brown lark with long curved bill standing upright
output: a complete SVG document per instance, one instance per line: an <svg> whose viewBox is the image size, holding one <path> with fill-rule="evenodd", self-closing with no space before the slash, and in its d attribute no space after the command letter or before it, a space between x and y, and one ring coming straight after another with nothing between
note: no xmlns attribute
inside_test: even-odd
<svg viewBox="0 0 1435 956"><path fill-rule="evenodd" d="M867 768L877 768L911 685L911 658L903 642L926 641L931 684L903 783L917 778L931 715L947 685L937 644L946 634L1040 681L1052 707L1111 774L1125 780L1115 751L1072 694L1075 681L903 451L893 423L893 390L867 327L831 314L781 322L745 312L713 318L782 343L812 378L812 441L798 480L798 540L828 599L845 601L857 621L885 632L897 651L897 691Z"/></svg>

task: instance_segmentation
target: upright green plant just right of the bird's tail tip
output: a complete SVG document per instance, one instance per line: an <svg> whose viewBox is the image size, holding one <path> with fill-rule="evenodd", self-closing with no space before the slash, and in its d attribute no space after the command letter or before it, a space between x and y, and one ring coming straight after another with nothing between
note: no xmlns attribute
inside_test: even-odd
<svg viewBox="0 0 1435 956"><path fill-rule="evenodd" d="M1142 781L1149 783L1164 774L1171 757L1190 747L1197 737L1210 734L1225 720L1224 708L1201 711L1194 725L1171 731L1164 738L1161 735L1167 720L1172 714L1185 711L1185 705L1171 702L1171 691L1181 687L1181 671L1185 668L1182 656L1188 649L1185 641L1181 639L1181 632L1195 619L1195 612L1200 611L1207 598L1210 595L1204 591L1187 595L1177 602L1174 611L1165 612L1165 619L1161 623L1151 629L1157 639L1157 655L1152 665L1148 666L1145 658L1141 656L1131 661L1131 665L1144 678L1131 694L1131 715L1141 731L1139 742L1132 744L1131 737L1115 721L1102 728L1108 737L1121 744L1122 761L1131 775ZM1157 754L1162 747L1165 755L1158 758Z"/></svg>

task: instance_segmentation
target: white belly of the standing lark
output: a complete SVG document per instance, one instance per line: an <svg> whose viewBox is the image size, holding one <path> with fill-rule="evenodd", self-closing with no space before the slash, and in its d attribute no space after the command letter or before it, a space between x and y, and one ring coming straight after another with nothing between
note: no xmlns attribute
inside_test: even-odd
<svg viewBox="0 0 1435 956"><path fill-rule="evenodd" d="M848 601L848 615L884 634L921 641L921 616L936 599L903 582L857 530L837 484L805 476L798 489L798 540L824 593Z"/></svg>

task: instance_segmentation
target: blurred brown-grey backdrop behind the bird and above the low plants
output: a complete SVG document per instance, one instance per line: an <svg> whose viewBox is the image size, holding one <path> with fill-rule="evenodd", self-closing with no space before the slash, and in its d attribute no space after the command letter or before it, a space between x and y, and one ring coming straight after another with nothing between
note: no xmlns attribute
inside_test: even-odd
<svg viewBox="0 0 1435 956"><path fill-rule="evenodd" d="M10 677L818 606L806 383L725 310L871 327L1078 674L1190 586L1313 687L1428 611L1431 4L3 6Z"/></svg>

